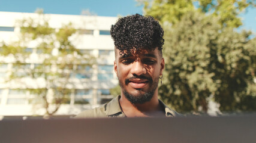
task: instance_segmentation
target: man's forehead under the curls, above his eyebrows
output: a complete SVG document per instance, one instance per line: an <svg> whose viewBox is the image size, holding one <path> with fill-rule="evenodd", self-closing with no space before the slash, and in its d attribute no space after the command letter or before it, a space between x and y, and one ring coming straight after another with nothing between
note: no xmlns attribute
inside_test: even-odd
<svg viewBox="0 0 256 143"><path fill-rule="evenodd" d="M120 50L115 49L116 58L126 58L126 57L153 57L158 58L159 53L158 49L149 50L149 49L131 49L131 50Z"/></svg>

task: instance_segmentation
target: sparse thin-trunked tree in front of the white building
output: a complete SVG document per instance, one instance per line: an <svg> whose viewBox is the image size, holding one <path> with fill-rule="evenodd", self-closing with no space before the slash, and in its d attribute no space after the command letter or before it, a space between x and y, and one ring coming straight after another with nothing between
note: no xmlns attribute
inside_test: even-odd
<svg viewBox="0 0 256 143"><path fill-rule="evenodd" d="M31 102L40 103L46 115L52 116L61 104L74 102L70 101L76 86L73 79L84 74L94 58L83 55L71 42L77 31L71 23L53 29L47 17L38 13L36 17L20 20L17 26L19 41L1 44L1 56L11 59L14 69L7 82L17 83L35 95ZM30 45L35 46L37 54L28 51ZM28 63L33 66L26 67Z"/></svg>

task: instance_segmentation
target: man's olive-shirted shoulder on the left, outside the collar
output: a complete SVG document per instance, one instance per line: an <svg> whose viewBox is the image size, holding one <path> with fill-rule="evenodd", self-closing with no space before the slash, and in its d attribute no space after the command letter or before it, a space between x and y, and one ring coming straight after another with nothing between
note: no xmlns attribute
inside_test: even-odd
<svg viewBox="0 0 256 143"><path fill-rule="evenodd" d="M95 118L95 117L107 117L105 112L106 104L101 105L100 107L82 111L77 114L74 118Z"/></svg>

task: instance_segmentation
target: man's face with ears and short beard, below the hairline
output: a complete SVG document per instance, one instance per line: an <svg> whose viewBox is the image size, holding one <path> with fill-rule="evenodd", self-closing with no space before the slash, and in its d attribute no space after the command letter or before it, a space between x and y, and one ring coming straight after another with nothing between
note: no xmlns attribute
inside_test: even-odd
<svg viewBox="0 0 256 143"><path fill-rule="evenodd" d="M122 94L132 104L143 104L157 96L159 75L164 69L164 58L158 49L132 50L116 49L114 69L122 88Z"/></svg>

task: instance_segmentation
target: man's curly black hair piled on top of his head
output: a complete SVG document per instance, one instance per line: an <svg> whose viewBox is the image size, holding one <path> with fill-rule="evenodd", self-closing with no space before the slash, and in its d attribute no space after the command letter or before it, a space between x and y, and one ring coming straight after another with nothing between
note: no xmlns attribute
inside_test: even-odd
<svg viewBox="0 0 256 143"><path fill-rule="evenodd" d="M110 35L117 49L130 51L135 49L162 50L164 30L152 16L140 14L119 18L112 25Z"/></svg>

